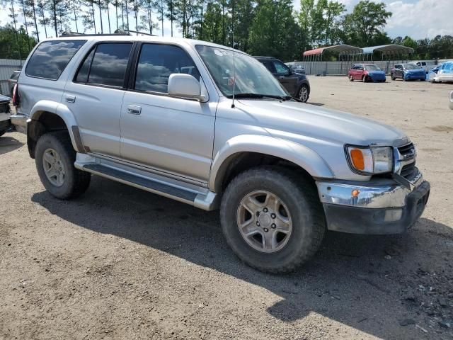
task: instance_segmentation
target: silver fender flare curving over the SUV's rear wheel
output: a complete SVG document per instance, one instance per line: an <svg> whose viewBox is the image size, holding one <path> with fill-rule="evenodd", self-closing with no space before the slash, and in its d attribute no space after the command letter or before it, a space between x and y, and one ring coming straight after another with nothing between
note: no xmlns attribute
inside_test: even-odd
<svg viewBox="0 0 453 340"><path fill-rule="evenodd" d="M56 101L38 101L30 111L30 120L38 120L40 115L45 112L54 113L55 115L58 115L59 118L62 118L69 132L69 137L71 138L74 150L85 152L83 144L81 143L79 128L74 113L62 103Z"/></svg>

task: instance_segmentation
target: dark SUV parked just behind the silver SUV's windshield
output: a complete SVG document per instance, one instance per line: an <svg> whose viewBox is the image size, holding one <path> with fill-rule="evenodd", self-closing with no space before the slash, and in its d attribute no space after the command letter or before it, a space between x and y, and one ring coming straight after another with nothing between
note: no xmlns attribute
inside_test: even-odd
<svg viewBox="0 0 453 340"><path fill-rule="evenodd" d="M285 89L296 98L304 103L310 96L310 84L305 74L292 72L287 65L273 57L255 57L261 62L275 78L280 81Z"/></svg>

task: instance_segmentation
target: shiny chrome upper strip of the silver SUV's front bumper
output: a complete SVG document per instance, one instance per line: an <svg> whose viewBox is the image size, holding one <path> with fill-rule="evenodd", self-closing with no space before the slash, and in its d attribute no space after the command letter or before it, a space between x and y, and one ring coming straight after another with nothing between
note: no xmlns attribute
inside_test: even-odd
<svg viewBox="0 0 453 340"><path fill-rule="evenodd" d="M423 175L419 173L410 182L416 188L423 181ZM321 203L348 205L357 208L401 208L406 205L406 197L411 193L411 190L400 184L365 186L365 183L364 186L357 186L346 183L316 181L316 186L318 186Z"/></svg>

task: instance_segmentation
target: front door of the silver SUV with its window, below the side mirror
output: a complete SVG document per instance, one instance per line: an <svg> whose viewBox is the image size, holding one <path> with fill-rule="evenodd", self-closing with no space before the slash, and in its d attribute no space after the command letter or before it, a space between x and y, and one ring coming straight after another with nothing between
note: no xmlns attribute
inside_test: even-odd
<svg viewBox="0 0 453 340"><path fill-rule="evenodd" d="M137 52L121 110L122 159L207 183L217 103L168 96L170 74L191 74L202 83L182 47L143 43Z"/></svg>

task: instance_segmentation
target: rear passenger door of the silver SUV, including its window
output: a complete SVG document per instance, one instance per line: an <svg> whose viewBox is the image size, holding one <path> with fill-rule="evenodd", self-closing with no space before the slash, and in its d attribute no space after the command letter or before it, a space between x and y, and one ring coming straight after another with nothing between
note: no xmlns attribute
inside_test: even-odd
<svg viewBox="0 0 453 340"><path fill-rule="evenodd" d="M62 101L88 152L120 157L120 115L132 42L101 42L84 57Z"/></svg>

